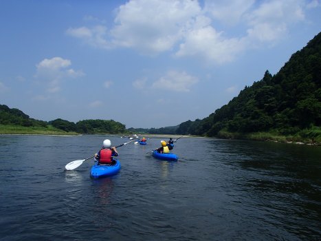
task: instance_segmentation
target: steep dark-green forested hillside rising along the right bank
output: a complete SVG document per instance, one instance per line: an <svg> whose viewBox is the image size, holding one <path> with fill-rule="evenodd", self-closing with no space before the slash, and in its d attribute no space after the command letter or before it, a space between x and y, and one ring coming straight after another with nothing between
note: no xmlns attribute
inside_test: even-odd
<svg viewBox="0 0 321 241"><path fill-rule="evenodd" d="M239 96L203 120L186 121L177 134L224 136L226 133L274 132L321 134L321 33L272 76L245 87Z"/></svg>

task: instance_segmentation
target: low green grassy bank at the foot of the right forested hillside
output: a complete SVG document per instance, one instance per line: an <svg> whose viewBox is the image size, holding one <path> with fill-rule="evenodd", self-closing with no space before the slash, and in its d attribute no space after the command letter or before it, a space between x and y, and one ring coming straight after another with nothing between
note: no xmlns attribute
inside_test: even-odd
<svg viewBox="0 0 321 241"><path fill-rule="evenodd" d="M226 139L261 140L276 141L280 143L321 145L321 128L313 127L311 129L303 129L302 131L293 135L282 135L278 132L232 133L221 131L217 137Z"/></svg>

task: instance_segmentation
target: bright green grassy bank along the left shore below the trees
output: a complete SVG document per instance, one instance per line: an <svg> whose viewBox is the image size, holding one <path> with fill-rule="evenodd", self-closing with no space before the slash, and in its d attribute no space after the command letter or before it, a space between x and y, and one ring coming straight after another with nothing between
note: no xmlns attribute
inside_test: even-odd
<svg viewBox="0 0 321 241"><path fill-rule="evenodd" d="M26 134L26 135L78 135L76 132L64 132L52 126L23 127L20 125L0 125L0 134Z"/></svg>

